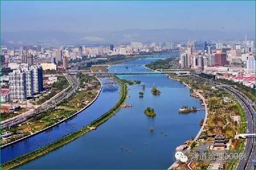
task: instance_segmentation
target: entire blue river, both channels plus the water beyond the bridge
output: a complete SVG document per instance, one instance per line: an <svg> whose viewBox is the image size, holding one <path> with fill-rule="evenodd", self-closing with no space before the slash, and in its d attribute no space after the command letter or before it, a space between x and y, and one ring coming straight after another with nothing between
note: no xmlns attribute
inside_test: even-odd
<svg viewBox="0 0 256 170"><path fill-rule="evenodd" d="M171 55L175 56L177 53L162 58ZM111 72L149 71L141 64L157 59L159 58L138 59L122 63L137 66L128 66L128 68L111 66L109 70ZM130 97L126 103L131 104L131 108L120 109L97 130L24 164L19 169L167 169L175 161L175 148L190 137L196 136L200 129L199 122L205 114L204 111L198 111L185 115L179 114L178 110L183 105L202 108L199 99L189 96L189 88L164 74L119 77L141 81L140 85L128 86ZM109 82L105 78L101 81ZM138 93L143 91L142 84L145 84L144 97L139 98ZM151 94L150 89L153 85L162 92L159 96ZM52 142L87 125L108 111L119 99L119 85L114 86L115 88L108 88L108 83L104 84L96 102L69 122L2 149L1 162ZM157 113L154 119L148 118L143 113L147 107L154 108ZM73 128L73 125L76 127ZM150 127L154 127L154 133L150 132Z"/></svg>

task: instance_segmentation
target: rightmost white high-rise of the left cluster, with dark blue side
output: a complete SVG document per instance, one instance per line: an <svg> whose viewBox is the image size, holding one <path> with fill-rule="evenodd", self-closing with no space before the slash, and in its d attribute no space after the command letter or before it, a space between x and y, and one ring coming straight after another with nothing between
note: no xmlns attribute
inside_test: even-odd
<svg viewBox="0 0 256 170"><path fill-rule="evenodd" d="M30 71L33 74L33 94L44 91L42 66L32 65Z"/></svg>

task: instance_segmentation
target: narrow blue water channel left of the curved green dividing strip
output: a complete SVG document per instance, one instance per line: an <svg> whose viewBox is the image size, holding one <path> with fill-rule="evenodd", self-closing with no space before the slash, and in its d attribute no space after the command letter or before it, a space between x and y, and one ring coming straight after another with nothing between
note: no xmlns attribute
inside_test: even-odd
<svg viewBox="0 0 256 170"><path fill-rule="evenodd" d="M102 78L101 81L104 83L110 80ZM48 132L39 133L38 135L22 142L1 149L1 163L14 159L17 156L23 155L32 150L36 150L92 122L94 119L111 109L119 99L119 85L117 84L115 87L116 88L108 88L108 85L103 85L102 92L93 105L79 113L69 122L64 122ZM108 103L106 104L104 101L108 101ZM74 125L75 127L73 127ZM47 134L49 134L49 136L47 136Z"/></svg>

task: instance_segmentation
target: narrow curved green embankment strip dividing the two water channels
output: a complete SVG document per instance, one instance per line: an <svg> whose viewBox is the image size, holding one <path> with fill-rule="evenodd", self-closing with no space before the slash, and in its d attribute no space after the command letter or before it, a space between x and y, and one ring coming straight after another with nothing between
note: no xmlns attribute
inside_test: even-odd
<svg viewBox="0 0 256 170"><path fill-rule="evenodd" d="M76 130L73 133L70 133L70 134L50 143L50 144L47 144L46 146L41 147L38 150L34 150L32 152L26 153L23 156L17 157L16 159L13 159L11 161L7 161L4 164L1 164L1 168L2 169L15 168L21 164L25 164L26 162L29 162L33 159L36 159L40 156L47 154L53 150L56 150L59 147L62 147L65 144L77 139L79 136L84 135L85 133L89 132L90 130L95 129L96 127L101 125L103 122L108 120L111 116L116 114L116 112L120 109L119 106L126 101L126 95L127 95L128 91L127 91L127 86L125 84L123 84L122 81L118 77L115 77L115 79L121 87L121 94L120 94L119 101L116 103L116 105L110 111L106 112L105 114L103 114L102 116L100 116L99 118L94 120L93 122L89 123L88 125L83 126L82 128L80 128L79 130Z"/></svg>

